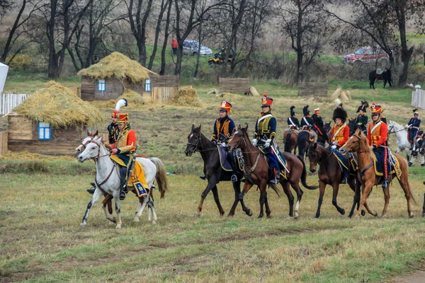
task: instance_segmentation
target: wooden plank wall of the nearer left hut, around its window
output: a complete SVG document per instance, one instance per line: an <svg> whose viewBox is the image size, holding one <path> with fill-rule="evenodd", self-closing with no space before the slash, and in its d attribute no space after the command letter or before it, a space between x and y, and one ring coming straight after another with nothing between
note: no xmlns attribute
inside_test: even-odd
<svg viewBox="0 0 425 283"><path fill-rule="evenodd" d="M35 154L73 155L83 139L84 127L52 128L52 139L38 140L38 122L22 115L8 116L8 149Z"/></svg>

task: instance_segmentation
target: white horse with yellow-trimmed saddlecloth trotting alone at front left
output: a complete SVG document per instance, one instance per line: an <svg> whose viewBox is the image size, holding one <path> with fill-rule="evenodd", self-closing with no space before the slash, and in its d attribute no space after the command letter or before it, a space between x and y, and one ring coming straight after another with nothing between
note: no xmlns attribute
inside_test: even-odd
<svg viewBox="0 0 425 283"><path fill-rule="evenodd" d="M81 143L82 144L82 143ZM120 229L122 222L120 217L120 170L118 165L113 163L111 158L109 157L111 154L108 149L106 149L105 144L103 144L101 137L94 137L89 144L86 144L86 148L84 151L79 154L78 160L80 162L84 162L88 159L94 159L96 161L96 190L94 191L93 198L87 204L86 213L83 216L83 221L81 221L80 226L86 226L86 220L89 217L90 209L95 202L97 202L103 192L112 195L113 200L115 201L115 211L117 212L117 218L108 212L106 208L106 204L103 205L103 211L105 212L106 218L109 221L113 221L117 223L116 229ZM159 192L161 192L161 198L164 197L165 192L168 190L168 182L166 180L166 170L164 163L159 158L136 158L137 162L143 167L143 171L145 172L145 178L148 187L152 187L154 184L154 180L157 180ZM153 221L152 224L157 221L157 214L155 213L154 204L152 201L152 197L148 194L147 197L144 198L143 202L139 202L137 204L135 222L140 221L140 216L142 215L143 209L145 209L146 205L149 206L148 211L148 220L150 220L150 212L152 212Z"/></svg>

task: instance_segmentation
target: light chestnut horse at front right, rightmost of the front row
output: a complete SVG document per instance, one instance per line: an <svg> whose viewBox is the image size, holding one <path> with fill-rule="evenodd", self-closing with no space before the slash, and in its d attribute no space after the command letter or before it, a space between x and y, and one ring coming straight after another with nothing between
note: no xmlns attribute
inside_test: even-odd
<svg viewBox="0 0 425 283"><path fill-rule="evenodd" d="M376 159L373 150L370 149L368 145L368 138L363 134L361 129L357 129L356 132L351 136L346 144L339 149L341 153L348 151L356 151L358 156L358 178L361 182L362 196L360 200L360 206L358 207L358 216L360 215L361 208L363 204L365 204L370 192L372 191L372 187L374 185L382 184L382 178L379 175L375 174L375 170L373 170L373 161ZM407 212L409 213L409 217L413 217L412 207L410 207L410 198L416 203L414 200L414 195L412 192L412 187L409 184L409 173L407 171L407 161L402 158L399 154L393 154L398 162L399 168L402 171L401 177L398 179L400 186L404 190L404 196L407 200ZM393 173L391 175L392 178L397 175ZM382 216L387 214L388 203L390 202L390 188L387 187L383 189L385 196L385 205L382 210ZM367 208L367 207L366 207ZM376 216L378 215L376 212L373 212Z"/></svg>

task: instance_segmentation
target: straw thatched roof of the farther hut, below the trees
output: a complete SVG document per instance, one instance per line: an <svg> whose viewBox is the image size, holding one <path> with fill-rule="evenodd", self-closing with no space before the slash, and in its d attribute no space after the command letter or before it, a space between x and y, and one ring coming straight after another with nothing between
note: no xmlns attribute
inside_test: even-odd
<svg viewBox="0 0 425 283"><path fill-rule="evenodd" d="M121 54L113 52L107 57L101 59L97 64L78 72L79 76L87 76L91 79L108 79L113 76L123 81L129 79L131 83L140 83L149 79L149 75L157 76L153 71L142 67L139 62L132 60Z"/></svg>

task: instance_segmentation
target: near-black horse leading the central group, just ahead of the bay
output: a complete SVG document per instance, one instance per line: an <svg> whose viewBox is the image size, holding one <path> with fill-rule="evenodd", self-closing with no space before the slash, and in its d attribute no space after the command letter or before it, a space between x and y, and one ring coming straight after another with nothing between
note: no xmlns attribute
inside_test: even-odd
<svg viewBox="0 0 425 283"><path fill-rule="evenodd" d="M203 202L210 190L212 190L212 195L214 195L214 200L217 204L218 211L220 212L220 215L223 216L225 214L225 211L223 210L220 204L217 184L220 183L220 181L229 181L233 173L231 171L228 172L222 169L222 166L220 164L220 156L217 151L217 146L215 144L212 144L210 139L205 137L205 134L200 132L200 127L201 126L195 127L195 125L192 125L191 133L188 135L188 144L186 146L186 151L184 151L186 156L192 156L192 154L196 151L200 153L200 156L202 157L204 162L203 171L205 173L206 179L208 180L207 187L205 187L205 190L203 191L202 195L200 195L200 203L194 216L200 216L200 212L202 212ZM241 192L240 178L238 178L237 182L234 182L232 184L234 190L234 202L232 208L230 209L229 216L234 215L234 210L236 209L237 204L239 202L239 193ZM242 205L242 210L247 215L251 216L252 212L248 207L245 206L244 201L240 200L240 202Z"/></svg>

